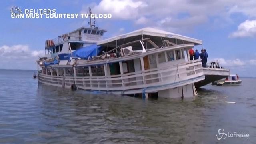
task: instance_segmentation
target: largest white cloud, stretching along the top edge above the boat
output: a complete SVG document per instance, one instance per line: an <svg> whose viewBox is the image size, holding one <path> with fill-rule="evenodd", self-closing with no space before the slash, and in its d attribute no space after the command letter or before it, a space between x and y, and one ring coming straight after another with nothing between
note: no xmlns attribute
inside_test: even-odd
<svg viewBox="0 0 256 144"><path fill-rule="evenodd" d="M111 13L112 19L133 20L134 24L179 31L207 22L213 24L210 17L222 25L231 23L230 15L234 13L256 17L256 0L101 0L90 6L94 13ZM88 6L82 9L88 12Z"/></svg>

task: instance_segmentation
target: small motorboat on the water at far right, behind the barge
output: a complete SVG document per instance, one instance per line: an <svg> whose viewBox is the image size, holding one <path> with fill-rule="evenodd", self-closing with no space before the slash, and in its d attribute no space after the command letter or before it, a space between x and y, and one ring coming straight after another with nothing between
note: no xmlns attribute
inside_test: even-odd
<svg viewBox="0 0 256 144"><path fill-rule="evenodd" d="M230 76L226 77L224 80L218 80L212 82L212 85L216 86L238 86L242 83L242 80L239 80L237 74L231 74Z"/></svg>

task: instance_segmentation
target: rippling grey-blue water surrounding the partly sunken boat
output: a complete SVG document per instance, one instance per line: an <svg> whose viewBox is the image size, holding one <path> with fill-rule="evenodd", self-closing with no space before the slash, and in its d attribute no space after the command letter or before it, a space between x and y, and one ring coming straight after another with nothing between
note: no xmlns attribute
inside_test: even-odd
<svg viewBox="0 0 256 144"><path fill-rule="evenodd" d="M256 143L253 78L241 78L242 86L208 85L181 101L63 90L38 84L33 73L0 70L1 144ZM218 129L250 138L217 140Z"/></svg>

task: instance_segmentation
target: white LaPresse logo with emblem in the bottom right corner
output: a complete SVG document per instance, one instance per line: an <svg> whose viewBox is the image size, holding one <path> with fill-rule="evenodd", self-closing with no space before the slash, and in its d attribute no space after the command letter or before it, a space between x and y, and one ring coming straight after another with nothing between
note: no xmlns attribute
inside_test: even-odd
<svg viewBox="0 0 256 144"><path fill-rule="evenodd" d="M225 133L224 129L218 129L218 134L215 136L217 137L218 140L225 140L226 138L249 138L248 133L238 133L238 132L228 132Z"/></svg>

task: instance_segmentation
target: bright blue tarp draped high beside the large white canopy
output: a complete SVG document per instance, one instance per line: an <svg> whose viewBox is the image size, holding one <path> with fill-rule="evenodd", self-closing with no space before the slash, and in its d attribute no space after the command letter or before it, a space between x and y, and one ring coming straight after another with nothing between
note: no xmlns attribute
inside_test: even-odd
<svg viewBox="0 0 256 144"><path fill-rule="evenodd" d="M88 59L88 57L90 56L91 59L92 56L97 56L101 49L102 47L98 47L96 44L92 44L90 46L82 47L72 52L72 57Z"/></svg>

